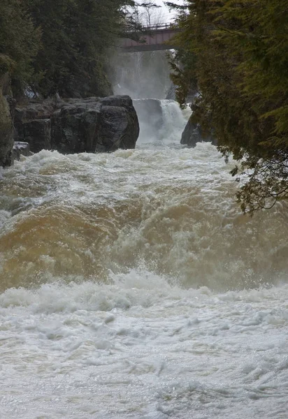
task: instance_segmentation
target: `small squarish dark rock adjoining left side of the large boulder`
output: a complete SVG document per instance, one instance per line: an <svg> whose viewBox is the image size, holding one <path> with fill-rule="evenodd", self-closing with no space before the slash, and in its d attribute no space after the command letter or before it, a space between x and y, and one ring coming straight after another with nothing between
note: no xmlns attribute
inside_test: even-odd
<svg viewBox="0 0 288 419"><path fill-rule="evenodd" d="M51 119L33 119L23 124L24 140L29 143L31 152L51 149Z"/></svg>

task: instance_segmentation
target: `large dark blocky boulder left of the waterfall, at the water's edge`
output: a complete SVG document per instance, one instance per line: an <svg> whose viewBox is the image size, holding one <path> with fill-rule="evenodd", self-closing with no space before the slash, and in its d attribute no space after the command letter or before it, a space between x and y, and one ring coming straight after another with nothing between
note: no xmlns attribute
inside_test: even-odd
<svg viewBox="0 0 288 419"><path fill-rule="evenodd" d="M52 148L61 153L135 148L138 134L129 96L71 99L52 115Z"/></svg>

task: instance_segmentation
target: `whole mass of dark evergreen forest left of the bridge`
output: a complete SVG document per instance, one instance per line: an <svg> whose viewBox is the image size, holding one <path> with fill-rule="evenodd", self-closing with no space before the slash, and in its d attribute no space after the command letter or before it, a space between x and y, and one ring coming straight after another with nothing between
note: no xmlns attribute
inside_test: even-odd
<svg viewBox="0 0 288 419"><path fill-rule="evenodd" d="M108 96L109 50L141 29L132 0L1 0L0 75L13 96Z"/></svg>

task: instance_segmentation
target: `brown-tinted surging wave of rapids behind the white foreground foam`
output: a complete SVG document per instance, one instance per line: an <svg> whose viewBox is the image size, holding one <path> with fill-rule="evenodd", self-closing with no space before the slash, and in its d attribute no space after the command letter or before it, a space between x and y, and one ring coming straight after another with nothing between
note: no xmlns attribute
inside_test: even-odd
<svg viewBox="0 0 288 419"><path fill-rule="evenodd" d="M139 265L185 288L285 281L285 204L253 219L217 149L43 151L3 172L1 288L110 281Z"/></svg>

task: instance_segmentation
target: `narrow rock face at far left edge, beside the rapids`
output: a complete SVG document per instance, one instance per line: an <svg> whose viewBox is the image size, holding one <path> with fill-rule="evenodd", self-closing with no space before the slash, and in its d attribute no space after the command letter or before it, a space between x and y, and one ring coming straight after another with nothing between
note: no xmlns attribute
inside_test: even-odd
<svg viewBox="0 0 288 419"><path fill-rule="evenodd" d="M15 103L7 91L8 75L0 76L0 166L13 163L13 112Z"/></svg>

